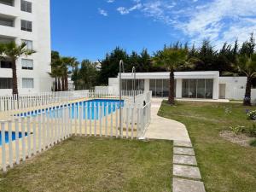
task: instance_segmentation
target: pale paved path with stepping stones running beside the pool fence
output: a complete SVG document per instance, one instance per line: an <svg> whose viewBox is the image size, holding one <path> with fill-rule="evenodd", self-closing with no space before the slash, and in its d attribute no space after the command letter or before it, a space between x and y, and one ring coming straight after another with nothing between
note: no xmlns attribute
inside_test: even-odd
<svg viewBox="0 0 256 192"><path fill-rule="evenodd" d="M173 192L206 192L188 131L185 125L157 115L161 102L153 99L152 120L145 137L173 141Z"/></svg>

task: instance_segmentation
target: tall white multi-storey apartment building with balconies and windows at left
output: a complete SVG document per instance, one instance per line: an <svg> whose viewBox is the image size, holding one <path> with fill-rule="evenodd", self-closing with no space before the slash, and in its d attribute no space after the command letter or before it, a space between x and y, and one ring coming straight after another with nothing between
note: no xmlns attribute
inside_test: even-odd
<svg viewBox="0 0 256 192"><path fill-rule="evenodd" d="M0 43L26 42L33 55L22 56L17 65L20 94L51 90L49 0L0 0ZM0 96L12 93L9 61L0 61Z"/></svg>

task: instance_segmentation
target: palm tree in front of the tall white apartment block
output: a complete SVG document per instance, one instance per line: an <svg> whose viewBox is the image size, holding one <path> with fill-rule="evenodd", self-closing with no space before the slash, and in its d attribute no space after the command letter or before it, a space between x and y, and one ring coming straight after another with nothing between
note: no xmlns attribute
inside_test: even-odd
<svg viewBox="0 0 256 192"><path fill-rule="evenodd" d="M22 55L32 55L34 53L36 53L35 50L26 49L26 43L16 44L15 42L10 42L8 44L0 44L0 55L2 55L1 57L4 59L9 59L12 64L14 95L19 94L16 61Z"/></svg>

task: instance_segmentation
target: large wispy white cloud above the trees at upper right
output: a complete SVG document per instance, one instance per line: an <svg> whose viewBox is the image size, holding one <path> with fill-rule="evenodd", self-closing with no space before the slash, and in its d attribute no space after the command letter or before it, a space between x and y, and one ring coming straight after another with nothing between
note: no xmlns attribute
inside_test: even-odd
<svg viewBox="0 0 256 192"><path fill-rule="evenodd" d="M208 38L219 48L224 42L244 41L256 30L256 0L214 0L197 7L177 28L195 42Z"/></svg>

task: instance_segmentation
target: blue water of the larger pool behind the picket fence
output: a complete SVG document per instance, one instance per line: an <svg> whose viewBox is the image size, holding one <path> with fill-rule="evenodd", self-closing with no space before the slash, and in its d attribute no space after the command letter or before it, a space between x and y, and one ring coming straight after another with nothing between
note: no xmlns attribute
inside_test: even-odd
<svg viewBox="0 0 256 192"><path fill-rule="evenodd" d="M115 110L118 108L119 109L119 100L114 100L114 99L94 99L94 100L89 100L83 102L76 102L73 104L68 104L68 106L71 106L72 108L72 113L71 116L72 118L79 118L77 117L77 114L79 113L79 106L84 107L82 108L82 113L83 113L83 119L99 119L99 110L102 108L102 117L106 116L106 114L110 114L112 112L115 112ZM90 108L90 106L92 106ZM96 106L96 107L94 107ZM107 111L107 106L108 106L108 111ZM111 108L112 106L112 108ZM124 101L121 102L121 106L124 107ZM67 107L67 105L64 105L64 107ZM63 106L57 106L56 108L63 108ZM85 111L86 108L86 111ZM46 113L49 112L50 109L55 109L54 108L46 108L38 111L32 111L28 113L20 113L17 114L17 116L27 116L27 115L32 115L35 116L37 113L41 113L46 111ZM95 117L96 114L96 117ZM86 115L86 116L85 116ZM51 117L55 117L54 113L50 114Z"/></svg>

